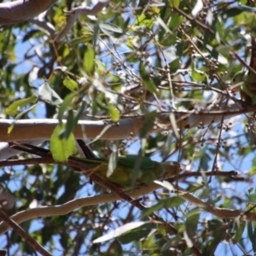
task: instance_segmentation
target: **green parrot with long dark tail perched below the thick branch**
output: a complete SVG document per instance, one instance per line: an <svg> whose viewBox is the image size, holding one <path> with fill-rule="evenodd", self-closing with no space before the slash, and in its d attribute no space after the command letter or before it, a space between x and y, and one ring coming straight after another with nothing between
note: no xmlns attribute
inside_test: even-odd
<svg viewBox="0 0 256 256"><path fill-rule="evenodd" d="M36 146L22 143L11 143L11 147L30 154L37 154L41 157L52 158L50 151L45 148L38 148ZM89 148L86 150L90 152ZM88 155L86 153L84 154L85 156ZM135 183L133 184L132 180L134 175L134 166L137 161L137 154L119 156L117 159L117 166L112 175L109 177L107 177L108 160L95 158L93 153L90 153L90 156L93 156L93 158L79 158L70 156L69 160L75 160L80 163L82 162L84 166L88 168L88 170L86 170L87 172L85 173L87 173L89 176L90 173L93 172L102 179L107 180L109 183L113 183L117 188L122 190L132 189L137 187L137 185L153 182L156 179L172 177L183 171L183 167L178 162L169 161L160 163L143 156L141 157L141 165L137 172Z"/></svg>

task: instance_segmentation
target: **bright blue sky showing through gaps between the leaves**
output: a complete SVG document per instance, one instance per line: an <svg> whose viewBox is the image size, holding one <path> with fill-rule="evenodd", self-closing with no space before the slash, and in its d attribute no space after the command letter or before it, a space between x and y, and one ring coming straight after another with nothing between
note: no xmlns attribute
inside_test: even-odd
<svg viewBox="0 0 256 256"><path fill-rule="evenodd" d="M17 31L19 32L19 31ZM22 32L20 32L22 34ZM23 53L26 52L27 49L30 48L30 45L28 43L21 43L17 44L16 47L16 61L20 62L23 59ZM27 73L29 70L31 70L32 65L29 61L22 61L22 63L16 67L16 71L17 73ZM42 84L44 81L42 79L36 79L33 81L33 86L38 86L40 84ZM17 96L19 96L19 93L17 94ZM43 118L45 115L45 111L44 111L44 105L40 105L37 109L37 118ZM231 132L232 131L232 132ZM236 121L236 126L232 127L230 132L224 132L224 136L228 137L230 140L232 139L232 137L234 137L234 132L236 131L236 134L241 134L242 132L244 132L243 130L243 126L241 125L241 121ZM244 139L244 143L247 143L246 139ZM137 141L136 143L132 143L130 148L127 148L129 153L131 154L137 154L137 151L140 148L140 142ZM235 151L234 151L235 153ZM160 154L154 154L153 160L160 160ZM254 152L252 152L251 154L247 154L247 157L244 158L241 162L239 162L238 159L236 159L236 156L234 158L234 160L232 162L234 162L234 166L237 167L237 171L240 171L241 174L246 173L247 171L249 171L252 167L252 163L253 160L255 159L255 154ZM183 163L185 165L185 163ZM193 166L193 170L192 171L197 171L198 170L198 166L199 163L195 163L195 166ZM209 163L209 166L212 166L212 162ZM230 165L230 163L228 162L224 162L223 163L223 170L234 170L234 166ZM187 167L187 166L185 166ZM17 171L19 171L19 168L17 168ZM196 181L196 180L195 180ZM254 187L255 184L255 179L253 178L252 183L230 183L230 186L226 189L224 189L224 193L225 195L232 195L233 193L236 192L237 195L241 196L241 198L243 198L244 196L246 196L247 194L247 189ZM17 189L17 186L19 186L19 184L17 183L10 183L11 187L9 189L11 190L15 190ZM211 185L211 184L210 184ZM224 184L223 184L224 185ZM13 187L12 187L13 186ZM253 191L255 193L255 191ZM84 195L90 195L90 193L93 193L93 190L90 186L90 184L88 184L88 186L84 187L82 190L80 190L77 194L77 197L79 196L84 196ZM61 194L61 191L60 191ZM128 203L126 204L128 205ZM241 206L241 208L244 208L244 206ZM117 217L125 217L127 212L128 212L128 207L123 207L122 209L119 209L119 211L116 213ZM202 214L203 216L207 216L207 214ZM207 218L207 217L206 217ZM34 220L32 223L32 227L31 227L31 231L32 230L38 230L42 227L42 224L40 222L40 220ZM58 244L58 239L55 239L56 241L56 245ZM1 247L1 243L5 244L4 241L0 242L0 247ZM15 248L13 248L14 250ZM233 250L236 253L233 253ZM222 244L218 247L218 250L216 252L216 255L241 255L241 251L239 251L237 249L236 246L234 245L230 245L230 244ZM55 251L55 255L61 255L61 253L59 251Z"/></svg>

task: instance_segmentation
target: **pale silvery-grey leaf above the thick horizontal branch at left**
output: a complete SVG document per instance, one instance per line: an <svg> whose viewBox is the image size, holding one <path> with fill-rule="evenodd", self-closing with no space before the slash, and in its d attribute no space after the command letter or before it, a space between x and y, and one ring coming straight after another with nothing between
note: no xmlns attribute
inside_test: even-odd
<svg viewBox="0 0 256 256"><path fill-rule="evenodd" d="M63 101L60 96L55 92L55 90L51 89L49 84L45 82L38 89L38 98L43 102L48 102L51 105L59 105Z"/></svg>

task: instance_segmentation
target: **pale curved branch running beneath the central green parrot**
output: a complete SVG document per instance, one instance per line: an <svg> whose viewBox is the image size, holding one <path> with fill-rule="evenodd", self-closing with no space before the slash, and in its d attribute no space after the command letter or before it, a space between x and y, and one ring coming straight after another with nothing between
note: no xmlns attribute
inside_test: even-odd
<svg viewBox="0 0 256 256"><path fill-rule="evenodd" d="M206 172L207 176L212 176L214 174L221 175L221 173L218 173L218 172ZM197 175L200 176L201 174L198 173ZM226 174L224 174L224 176L226 176ZM177 177L170 177L167 179L167 181L172 183L172 186L177 190L175 193L181 196L184 200L191 202L196 207L200 207L206 212L210 212L213 215L218 216L219 218L238 218L240 216L245 216L247 219L252 219L253 221L256 221L256 214L254 213L224 209L219 207L212 207L208 203L201 201L201 199L199 199L195 195L190 194L189 192L180 188L177 185L173 185L173 183L181 177L184 177L184 174L179 174L177 175ZM143 195L147 195L148 193L154 191L155 189L160 189L160 188L161 186L159 184L147 183L147 186L140 186L140 187L137 187L136 189L125 191L125 194L132 198L137 198ZM65 215L68 212L73 212L75 209L79 207L94 206L100 203L106 203L106 202L117 201L117 200L120 200L120 196L115 195L113 193L105 194L105 195L94 195L90 197L74 199L73 201L68 201L63 205L37 207L37 208L22 211L22 212L17 212L13 216L11 216L11 218L14 219L16 223L20 224L32 218ZM8 230L7 225L4 223L1 223L0 234L3 234L7 230Z"/></svg>

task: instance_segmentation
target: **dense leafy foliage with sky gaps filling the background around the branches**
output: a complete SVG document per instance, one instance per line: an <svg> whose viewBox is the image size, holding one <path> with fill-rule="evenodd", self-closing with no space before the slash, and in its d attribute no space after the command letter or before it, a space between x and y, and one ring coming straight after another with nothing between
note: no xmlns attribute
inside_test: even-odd
<svg viewBox="0 0 256 256"><path fill-rule="evenodd" d="M60 0L41 19L61 31L67 20L63 9L73 9L82 2ZM111 1L97 16L79 16L60 42L32 21L1 28L2 118L67 119L61 136L69 137L79 119L108 119L107 127L126 117L145 116L138 135L131 133L119 141L97 137L91 148L107 159L118 152L178 161L197 177L188 174L175 183L208 206L186 201L166 185L140 197L147 210L119 200L20 224L49 253L256 253L253 220L243 218L243 212L254 213L256 200L255 119L251 113L230 119L224 114L228 103L237 104L238 109L247 108L249 103L239 100L242 80L235 83L234 77L247 73L256 23L250 1L241 4ZM187 112L187 117L191 111L206 110L223 110L223 115L218 112L221 121L212 124L204 124L202 115L201 125L179 129L172 114L176 109ZM158 123L159 113L170 113L171 131ZM149 132L152 126L158 132ZM42 147L48 148L48 143ZM24 158L32 155L19 154L13 159ZM233 170L238 174L214 174ZM212 175L207 176L207 171ZM237 176L244 179L236 180ZM109 193L90 183L87 175L61 164L4 166L0 177L3 191L15 198L15 206L5 210L9 216L33 207ZM210 207L236 209L241 214L220 217ZM160 218L153 218L154 213ZM172 224L176 231L166 224ZM119 236L110 233L93 242L117 228L121 229ZM1 235L0 247L7 248L9 255L36 255L11 229Z"/></svg>

